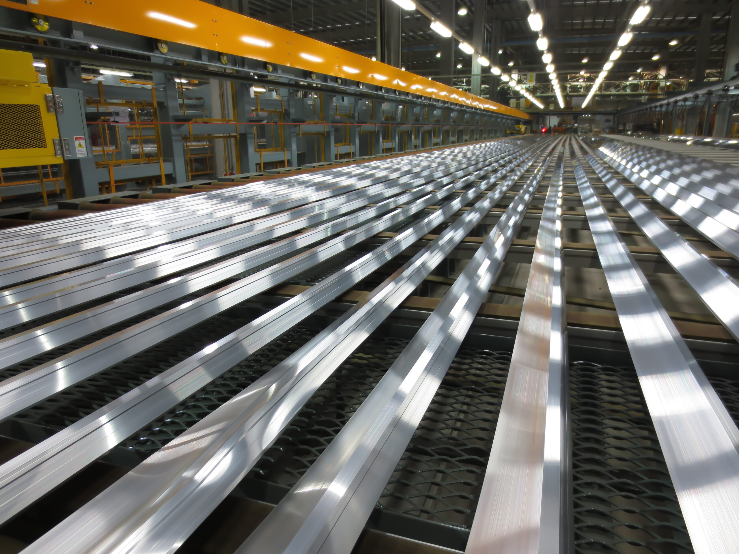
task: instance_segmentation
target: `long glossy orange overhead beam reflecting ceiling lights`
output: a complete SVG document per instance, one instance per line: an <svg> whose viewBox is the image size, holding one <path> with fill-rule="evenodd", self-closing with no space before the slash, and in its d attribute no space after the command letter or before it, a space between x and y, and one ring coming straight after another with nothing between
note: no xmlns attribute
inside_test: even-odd
<svg viewBox="0 0 739 554"><path fill-rule="evenodd" d="M200 0L38 0L28 5L0 0L0 6L531 119L517 109Z"/></svg>

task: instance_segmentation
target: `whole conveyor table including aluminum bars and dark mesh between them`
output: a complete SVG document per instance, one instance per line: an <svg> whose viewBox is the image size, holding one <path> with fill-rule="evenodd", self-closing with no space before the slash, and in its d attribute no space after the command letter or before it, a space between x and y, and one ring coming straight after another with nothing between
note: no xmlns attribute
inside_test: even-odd
<svg viewBox="0 0 739 554"><path fill-rule="evenodd" d="M739 350L667 311L738 338L739 264L700 253L739 253L734 170L588 144L0 232L0 429L35 443L0 465L0 534L107 456L135 468L24 553L174 553L240 494L276 504L240 554L348 554L366 527L429 552L735 554ZM585 263L565 246L588 240Z"/></svg>

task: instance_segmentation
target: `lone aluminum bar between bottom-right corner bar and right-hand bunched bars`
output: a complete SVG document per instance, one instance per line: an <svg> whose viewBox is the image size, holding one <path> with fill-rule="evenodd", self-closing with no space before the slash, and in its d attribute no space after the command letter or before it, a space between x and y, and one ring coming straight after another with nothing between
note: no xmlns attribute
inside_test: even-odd
<svg viewBox="0 0 739 554"><path fill-rule="evenodd" d="M578 157L581 156L577 143L573 146ZM590 163L590 167L605 182L613 196L616 196L644 236L650 239L672 269L685 279L687 284L698 293L706 307L718 318L718 321L721 321L723 326L739 341L739 286L736 281L659 219L618 179L606 171L587 146L583 146L585 147L585 159Z"/></svg>

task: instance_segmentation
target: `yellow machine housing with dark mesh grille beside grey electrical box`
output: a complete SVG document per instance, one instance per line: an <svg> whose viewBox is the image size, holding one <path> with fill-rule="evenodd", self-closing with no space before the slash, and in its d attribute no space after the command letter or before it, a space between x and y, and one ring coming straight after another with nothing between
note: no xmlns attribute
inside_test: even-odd
<svg viewBox="0 0 739 554"><path fill-rule="evenodd" d="M0 168L62 163L51 88L38 82L29 52L0 50Z"/></svg>

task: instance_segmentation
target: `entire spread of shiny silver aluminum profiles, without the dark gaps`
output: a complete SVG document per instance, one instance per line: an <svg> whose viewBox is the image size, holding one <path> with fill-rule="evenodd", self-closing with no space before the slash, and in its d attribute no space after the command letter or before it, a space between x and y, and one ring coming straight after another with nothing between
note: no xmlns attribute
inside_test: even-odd
<svg viewBox="0 0 739 554"><path fill-rule="evenodd" d="M7 418L414 216L397 236L319 284L0 465L0 521L458 215L313 339L24 550L174 552L321 383L506 193L515 192L375 389L237 550L349 553L500 273L534 195L551 175L543 184L545 203L510 371L466 551L568 553L572 487L562 200L563 174L573 168L692 546L701 554L739 552L739 431L593 191L586 164L738 338L735 281L665 225L613 171L737 256L739 187L731 175L714 168L710 179L690 179L669 156L614 143L592 151L573 137L495 140L1 233L4 329L160 280L10 335L0 341L3 368L231 280L2 381L0 415Z"/></svg>

